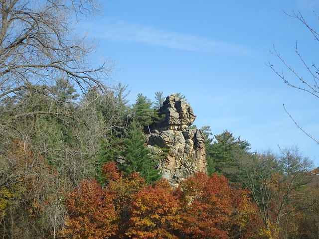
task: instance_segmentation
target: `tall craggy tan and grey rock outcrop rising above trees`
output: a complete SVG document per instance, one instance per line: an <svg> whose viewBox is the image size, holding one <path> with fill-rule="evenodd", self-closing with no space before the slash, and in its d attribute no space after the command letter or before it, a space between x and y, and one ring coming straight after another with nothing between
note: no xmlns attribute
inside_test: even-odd
<svg viewBox="0 0 319 239"><path fill-rule="evenodd" d="M160 115L163 120L151 125L148 144L168 150L159 167L162 177L178 186L195 172L206 172L204 135L199 129L189 129L196 116L186 101L173 94L166 98Z"/></svg>

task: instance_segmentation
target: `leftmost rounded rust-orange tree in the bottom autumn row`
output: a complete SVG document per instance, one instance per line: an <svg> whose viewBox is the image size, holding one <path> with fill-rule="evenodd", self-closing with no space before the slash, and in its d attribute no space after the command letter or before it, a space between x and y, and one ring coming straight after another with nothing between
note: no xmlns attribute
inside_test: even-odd
<svg viewBox="0 0 319 239"><path fill-rule="evenodd" d="M85 180L70 193L66 204L69 217L61 238L107 239L117 234L114 196L103 190L96 180Z"/></svg>

